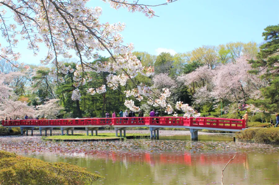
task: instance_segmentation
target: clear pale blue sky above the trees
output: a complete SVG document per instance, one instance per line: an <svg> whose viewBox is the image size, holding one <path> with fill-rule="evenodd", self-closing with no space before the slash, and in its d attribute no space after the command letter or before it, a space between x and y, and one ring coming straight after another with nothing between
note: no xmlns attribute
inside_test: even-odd
<svg viewBox="0 0 279 185"><path fill-rule="evenodd" d="M166 0L142 2L158 4ZM126 23L126 29L121 33L125 43L132 42L135 51L154 55L158 48L163 48L159 51L169 49L183 53L202 45L237 41L261 43L263 29L279 23L278 0L180 0L155 7L156 15L160 17L153 19L142 13L129 13L126 9L114 10L100 0L91 0L88 6L103 8L103 23ZM0 42L5 41L0 38ZM22 53L20 62L27 64L39 64L47 52L42 48L41 55L33 57L24 41L20 41L18 50Z"/></svg>

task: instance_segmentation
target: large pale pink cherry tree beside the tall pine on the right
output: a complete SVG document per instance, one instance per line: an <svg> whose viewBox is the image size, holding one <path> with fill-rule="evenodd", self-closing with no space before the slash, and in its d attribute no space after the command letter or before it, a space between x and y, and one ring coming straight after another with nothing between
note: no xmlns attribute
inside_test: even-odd
<svg viewBox="0 0 279 185"><path fill-rule="evenodd" d="M259 75L248 73L249 70L252 68L245 56L238 58L236 63L218 66L212 80L212 96L228 102L259 98L259 89L267 82L261 80Z"/></svg>

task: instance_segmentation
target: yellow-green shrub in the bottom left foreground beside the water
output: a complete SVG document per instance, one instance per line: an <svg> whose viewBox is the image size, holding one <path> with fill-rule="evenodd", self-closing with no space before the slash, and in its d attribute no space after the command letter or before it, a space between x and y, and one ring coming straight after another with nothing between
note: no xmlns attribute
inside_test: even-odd
<svg viewBox="0 0 279 185"><path fill-rule="evenodd" d="M102 178L64 162L44 162L0 151L0 184L87 185Z"/></svg>

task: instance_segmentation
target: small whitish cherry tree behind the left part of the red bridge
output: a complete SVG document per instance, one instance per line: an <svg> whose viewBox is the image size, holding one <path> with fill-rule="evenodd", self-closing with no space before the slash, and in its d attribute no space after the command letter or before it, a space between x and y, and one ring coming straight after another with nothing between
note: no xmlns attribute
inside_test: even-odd
<svg viewBox="0 0 279 185"><path fill-rule="evenodd" d="M62 110L62 107L57 103L58 101L60 101L60 99L51 99L42 105L36 106L36 115L48 119L55 119Z"/></svg>

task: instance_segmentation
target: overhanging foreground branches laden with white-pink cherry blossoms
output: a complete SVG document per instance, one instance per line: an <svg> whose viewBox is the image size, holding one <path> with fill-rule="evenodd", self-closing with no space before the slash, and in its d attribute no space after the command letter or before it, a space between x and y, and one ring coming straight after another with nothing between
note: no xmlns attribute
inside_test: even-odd
<svg viewBox="0 0 279 185"><path fill-rule="evenodd" d="M140 0L133 2L101 1L109 3L114 9L127 8L130 12L142 12L148 18L152 18L156 16L153 7L168 5L177 0L167 0L158 5L141 4ZM167 90L154 100L151 98L151 94L154 95L154 92L149 87L133 81L138 74L151 76L154 68L143 66L132 54L134 49L132 43L123 44L120 32L126 27L125 23L101 23L102 9L87 7L87 2L89 0L0 0L0 6L5 8L0 10L0 29L8 43L7 47L1 48L0 59L5 59L12 65L13 61L19 59L20 53L14 52L13 49L18 43L16 35L21 35L21 39L28 41L27 48L32 50L34 55L39 53L39 43L46 45L48 52L42 58L41 63L44 65L53 63L56 68L51 73L54 82L62 82L63 79L59 77L60 73L74 72L76 89L73 90L73 100L81 98L79 87L92 80L91 72L107 72L110 75L106 79L106 85L96 89L89 88L88 93L91 95L96 92L104 93L107 87L117 89L119 85L125 86L126 82L130 80L137 89L135 91L139 94L138 100L142 100L145 96L150 102L155 103L153 105L168 107L167 112L171 112L170 104L165 102L168 96ZM6 10L10 10L14 14L13 19L17 25L8 24L11 18L10 16L5 17ZM58 57L71 58L69 50L74 50L79 60L75 69L58 61ZM100 51L106 51L110 56L110 61L91 62L100 57ZM22 66L28 68L24 64ZM127 105L130 106L131 103ZM136 110L132 105L131 107ZM185 112L185 114L188 113L191 111Z"/></svg>

